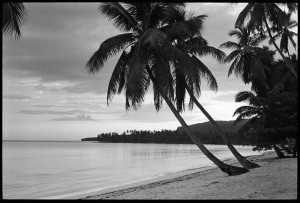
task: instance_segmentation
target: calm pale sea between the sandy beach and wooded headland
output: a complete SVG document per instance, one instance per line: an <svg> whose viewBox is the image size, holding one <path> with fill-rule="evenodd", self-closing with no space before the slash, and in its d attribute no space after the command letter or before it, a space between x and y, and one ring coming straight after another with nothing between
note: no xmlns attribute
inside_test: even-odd
<svg viewBox="0 0 300 203"><path fill-rule="evenodd" d="M227 146L207 148L221 160L234 158ZM207 166L214 164L188 144L3 141L3 198L67 198Z"/></svg>

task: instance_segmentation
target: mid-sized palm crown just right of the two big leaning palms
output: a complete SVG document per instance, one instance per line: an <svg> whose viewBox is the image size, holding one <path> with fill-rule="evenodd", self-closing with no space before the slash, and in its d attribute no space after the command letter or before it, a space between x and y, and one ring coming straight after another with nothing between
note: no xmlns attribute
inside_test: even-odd
<svg viewBox="0 0 300 203"><path fill-rule="evenodd" d="M251 74L255 73L251 70L251 64L257 60L255 57L258 51L257 46L266 36L252 32L248 26L237 27L228 34L237 38L237 42L228 41L220 45L220 48L233 49L224 61L232 61L228 77L234 73L237 77L241 76L243 82L247 84L250 82Z"/></svg>

